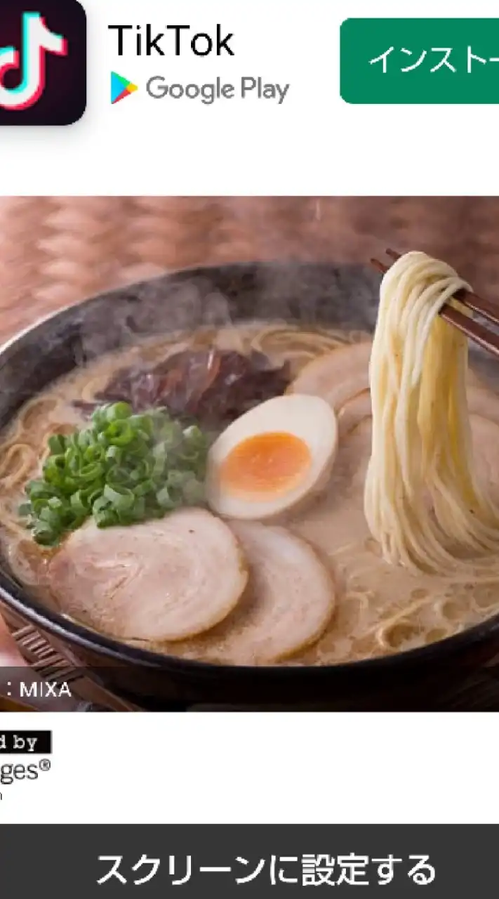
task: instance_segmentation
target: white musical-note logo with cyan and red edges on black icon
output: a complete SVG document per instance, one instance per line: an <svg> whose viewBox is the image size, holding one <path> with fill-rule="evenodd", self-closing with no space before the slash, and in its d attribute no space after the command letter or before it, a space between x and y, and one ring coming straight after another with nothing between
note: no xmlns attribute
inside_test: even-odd
<svg viewBox="0 0 499 899"><path fill-rule="evenodd" d="M0 49L0 106L5 110L25 110L40 99L45 87L46 53L67 56L67 40L49 31L40 13L23 13L21 50ZM4 73L11 68L21 69L18 87L4 86Z"/></svg>

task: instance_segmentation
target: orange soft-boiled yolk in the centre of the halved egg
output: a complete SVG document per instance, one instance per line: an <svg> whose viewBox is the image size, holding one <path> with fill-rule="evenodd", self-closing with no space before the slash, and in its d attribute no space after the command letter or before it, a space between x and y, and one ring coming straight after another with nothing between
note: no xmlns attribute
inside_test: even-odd
<svg viewBox="0 0 499 899"><path fill-rule="evenodd" d="M306 474L312 457L294 434L255 434L238 443L220 468L220 482L231 494L282 494Z"/></svg>

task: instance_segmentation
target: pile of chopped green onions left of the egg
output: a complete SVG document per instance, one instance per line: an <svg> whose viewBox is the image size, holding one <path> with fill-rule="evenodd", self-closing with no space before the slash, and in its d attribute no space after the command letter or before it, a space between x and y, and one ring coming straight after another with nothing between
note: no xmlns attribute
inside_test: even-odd
<svg viewBox="0 0 499 899"><path fill-rule="evenodd" d="M101 406L90 426L49 438L42 476L26 485L19 514L41 546L58 545L89 518L99 528L163 518L204 500L209 439L167 410L133 414Z"/></svg>

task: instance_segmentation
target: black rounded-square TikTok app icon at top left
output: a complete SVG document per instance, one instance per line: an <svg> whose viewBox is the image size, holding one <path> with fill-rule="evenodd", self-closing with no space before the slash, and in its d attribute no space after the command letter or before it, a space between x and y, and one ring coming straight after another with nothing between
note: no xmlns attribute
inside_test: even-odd
<svg viewBox="0 0 499 899"><path fill-rule="evenodd" d="M86 107L77 0L0 0L0 126L73 125Z"/></svg>

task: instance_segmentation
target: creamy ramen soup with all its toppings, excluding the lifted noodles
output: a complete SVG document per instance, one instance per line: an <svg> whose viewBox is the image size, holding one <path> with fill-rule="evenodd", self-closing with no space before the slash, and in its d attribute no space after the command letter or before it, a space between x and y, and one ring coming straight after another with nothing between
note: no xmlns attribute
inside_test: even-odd
<svg viewBox="0 0 499 899"><path fill-rule="evenodd" d="M13 575L88 628L214 663L355 661L492 616L499 590L471 563L414 573L370 535L370 348L368 334L249 322L60 379L1 438ZM468 408L497 495L499 397L472 372Z"/></svg>

